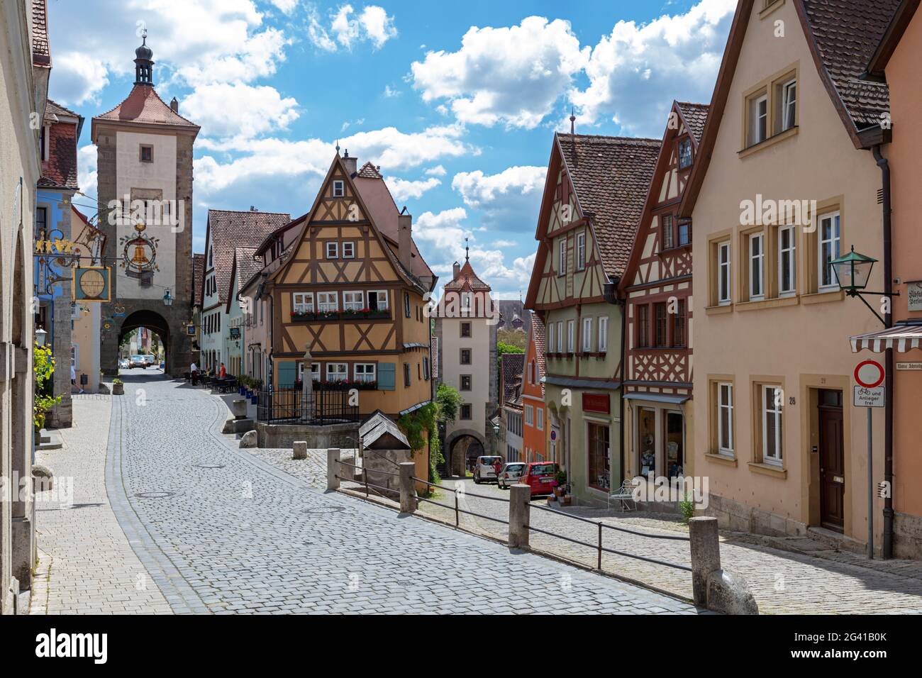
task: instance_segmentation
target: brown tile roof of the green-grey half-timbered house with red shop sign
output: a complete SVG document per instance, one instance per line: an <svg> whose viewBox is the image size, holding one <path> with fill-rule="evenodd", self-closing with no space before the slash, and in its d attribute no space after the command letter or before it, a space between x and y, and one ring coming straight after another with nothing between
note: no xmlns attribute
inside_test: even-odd
<svg viewBox="0 0 922 678"><path fill-rule="evenodd" d="M579 206L591 212L606 274L631 256L637 221L656 168L659 139L557 134Z"/></svg>

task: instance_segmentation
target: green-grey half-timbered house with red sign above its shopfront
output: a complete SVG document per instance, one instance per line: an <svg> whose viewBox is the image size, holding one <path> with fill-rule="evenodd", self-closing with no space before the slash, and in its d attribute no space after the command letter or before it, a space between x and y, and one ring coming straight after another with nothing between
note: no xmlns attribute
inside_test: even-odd
<svg viewBox="0 0 922 678"><path fill-rule="evenodd" d="M546 327L548 453L584 504L607 502L622 480L616 291L659 146L658 139L555 134L551 147L526 308Z"/></svg>

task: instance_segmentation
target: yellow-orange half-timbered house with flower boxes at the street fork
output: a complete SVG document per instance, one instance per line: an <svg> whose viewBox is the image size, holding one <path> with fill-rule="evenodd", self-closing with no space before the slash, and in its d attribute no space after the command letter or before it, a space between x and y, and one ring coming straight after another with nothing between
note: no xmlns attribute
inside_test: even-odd
<svg viewBox="0 0 922 678"><path fill-rule="evenodd" d="M349 151L337 153L312 208L291 226L298 234L269 263L260 292L272 308L269 383L292 387L306 372L320 387L354 384L361 415L396 418L431 402L424 309L436 277L380 172L371 163L357 171Z"/></svg>

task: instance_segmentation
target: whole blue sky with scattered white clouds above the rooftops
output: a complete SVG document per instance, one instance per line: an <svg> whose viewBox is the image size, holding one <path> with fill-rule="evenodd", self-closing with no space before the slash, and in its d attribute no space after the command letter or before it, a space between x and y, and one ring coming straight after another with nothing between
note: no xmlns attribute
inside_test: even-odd
<svg viewBox="0 0 922 678"><path fill-rule="evenodd" d="M202 126L194 247L208 208L300 215L339 139L381 166L440 276L464 256L525 291L550 143L661 137L670 103L710 101L736 0L386 2L49 0L51 97L87 118L122 101L142 27L160 96ZM84 199L86 200L86 199Z"/></svg>

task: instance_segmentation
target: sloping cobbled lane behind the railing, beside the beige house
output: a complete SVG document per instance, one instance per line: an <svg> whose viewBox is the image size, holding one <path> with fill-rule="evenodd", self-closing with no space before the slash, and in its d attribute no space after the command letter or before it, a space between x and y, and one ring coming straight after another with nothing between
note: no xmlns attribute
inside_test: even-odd
<svg viewBox="0 0 922 678"><path fill-rule="evenodd" d="M454 488L454 483L447 482L448 487L440 491L440 496L435 500L454 506L454 493L450 489ZM467 510L485 516L508 519L507 503L470 495L484 494L508 499L507 490L500 490L495 484L476 485L470 479L464 484L466 497L460 500L461 508L467 507ZM538 510L537 506L547 506L544 497L533 499L532 506L530 520L533 527L571 539L597 543L596 525ZM657 519L656 514L628 514L622 517L621 513L615 511L585 507L564 510L655 535L688 534L684 526L665 516ZM455 520L453 509L434 506L429 502L420 502L420 511L444 520ZM467 529L488 532L502 539L507 537L506 526L492 520L462 514L461 521L462 527ZM751 543L750 540L735 539L733 535L722 537L721 541L721 564L746 578L762 613L922 613L922 581L911 575L894 574L899 571L897 564L892 565L892 571L881 572L852 565L854 560L851 558L834 561L807 554L787 553ZM535 548L560 554L575 562L593 567L597 565L595 548L537 532L532 532L530 543ZM677 565L690 565L687 541L649 539L603 529L603 545L609 549ZM603 554L602 566L608 572L691 598L691 573L610 553Z"/></svg>

